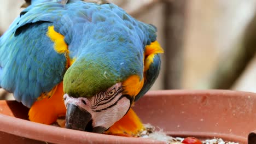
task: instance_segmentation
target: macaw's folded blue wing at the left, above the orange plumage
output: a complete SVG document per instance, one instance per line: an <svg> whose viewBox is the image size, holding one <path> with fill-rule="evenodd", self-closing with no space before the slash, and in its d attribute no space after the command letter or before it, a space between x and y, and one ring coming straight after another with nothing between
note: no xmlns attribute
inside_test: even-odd
<svg viewBox="0 0 256 144"><path fill-rule="evenodd" d="M66 58L46 36L49 22L30 23L19 33L5 33L0 47L0 86L30 107L42 92L62 81ZM3 43L4 42L4 43Z"/></svg>

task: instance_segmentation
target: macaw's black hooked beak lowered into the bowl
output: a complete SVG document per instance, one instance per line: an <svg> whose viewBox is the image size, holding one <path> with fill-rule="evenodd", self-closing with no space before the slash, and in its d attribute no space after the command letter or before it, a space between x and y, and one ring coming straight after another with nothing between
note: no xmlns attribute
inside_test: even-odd
<svg viewBox="0 0 256 144"><path fill-rule="evenodd" d="M67 105L66 128L93 133L103 133L106 130L104 127L93 128L91 113L74 104Z"/></svg>

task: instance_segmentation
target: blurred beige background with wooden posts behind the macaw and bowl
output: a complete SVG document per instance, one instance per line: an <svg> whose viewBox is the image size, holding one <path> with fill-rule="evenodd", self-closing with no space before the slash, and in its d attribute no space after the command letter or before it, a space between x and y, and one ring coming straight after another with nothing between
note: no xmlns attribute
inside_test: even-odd
<svg viewBox="0 0 256 144"><path fill-rule="evenodd" d="M110 2L158 28L165 53L152 89L256 92L256 0ZM23 3L0 1L0 34L19 15ZM1 89L0 99L13 98Z"/></svg>

